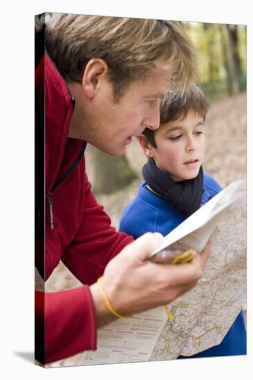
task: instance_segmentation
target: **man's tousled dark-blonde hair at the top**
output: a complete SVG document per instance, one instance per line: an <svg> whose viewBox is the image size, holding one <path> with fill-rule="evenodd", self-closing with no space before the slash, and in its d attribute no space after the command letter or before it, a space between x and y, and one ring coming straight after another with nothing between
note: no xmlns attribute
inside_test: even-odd
<svg viewBox="0 0 253 380"><path fill-rule="evenodd" d="M182 90L197 79L196 50L178 21L57 14L45 41L66 81L81 83L88 61L104 59L115 97L150 70L171 70Z"/></svg>

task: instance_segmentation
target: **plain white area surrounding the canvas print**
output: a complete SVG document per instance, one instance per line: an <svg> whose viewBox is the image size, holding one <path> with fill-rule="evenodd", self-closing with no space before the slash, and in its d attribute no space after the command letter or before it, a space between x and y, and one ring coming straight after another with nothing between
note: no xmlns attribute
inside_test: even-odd
<svg viewBox="0 0 253 380"><path fill-rule="evenodd" d="M252 344L247 357L190 359L157 363L98 365L94 367L44 370L29 360L32 357L33 328L33 210L34 210L34 113L33 113L33 16L57 11L100 15L122 15L183 21L247 24L247 178L252 193L252 19L250 2L231 1L93 1L91 3L9 1L1 17L1 372L6 378L24 376L42 379L238 379L250 372ZM2 82L2 81L1 81ZM252 128L251 128L252 129ZM248 199L252 210L252 200ZM252 212L248 226L252 225ZM248 227L248 294L252 292L252 243ZM247 305L247 329L251 334L252 310ZM46 371L46 372L45 372Z"/></svg>

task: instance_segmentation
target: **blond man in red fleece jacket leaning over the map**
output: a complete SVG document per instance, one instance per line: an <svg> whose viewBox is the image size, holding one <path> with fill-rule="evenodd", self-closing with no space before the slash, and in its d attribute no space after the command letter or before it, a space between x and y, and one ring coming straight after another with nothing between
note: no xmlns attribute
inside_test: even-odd
<svg viewBox="0 0 253 380"><path fill-rule="evenodd" d="M37 35L42 46L43 37L42 29ZM86 143L122 155L132 136L158 128L169 82L183 91L195 79L194 48L180 24L57 15L46 27L45 44L45 54L36 50L38 135L44 136L46 125L46 205L44 213L43 193L36 203L35 265L46 281L62 260L85 284L35 294L35 357L50 363L95 350L97 327L117 315L165 305L194 287L207 249L180 267L149 262L160 234L132 243L116 232L85 174ZM41 178L37 181L39 193ZM97 284L102 274L104 294Z"/></svg>

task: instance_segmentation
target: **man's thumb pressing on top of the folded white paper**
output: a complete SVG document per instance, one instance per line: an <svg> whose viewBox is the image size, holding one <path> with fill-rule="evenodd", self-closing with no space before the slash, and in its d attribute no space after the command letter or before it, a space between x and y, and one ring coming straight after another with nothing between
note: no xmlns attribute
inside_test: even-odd
<svg viewBox="0 0 253 380"><path fill-rule="evenodd" d="M136 239L133 243L129 244L123 249L126 254L135 256L140 260L145 260L160 244L162 244L163 236L158 232L147 232ZM123 252L122 251L122 252Z"/></svg>

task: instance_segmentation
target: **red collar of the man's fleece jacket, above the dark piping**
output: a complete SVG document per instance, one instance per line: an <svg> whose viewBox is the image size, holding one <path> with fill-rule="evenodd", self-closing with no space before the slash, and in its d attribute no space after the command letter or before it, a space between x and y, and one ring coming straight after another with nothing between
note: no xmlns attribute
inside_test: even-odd
<svg viewBox="0 0 253 380"><path fill-rule="evenodd" d="M68 139L73 99L62 75L45 53L45 185L46 198L55 182L71 167L82 149L82 140ZM70 140L68 142L68 140Z"/></svg>

